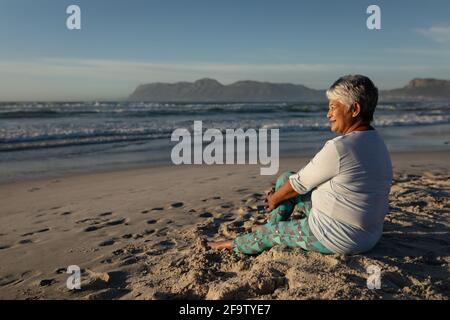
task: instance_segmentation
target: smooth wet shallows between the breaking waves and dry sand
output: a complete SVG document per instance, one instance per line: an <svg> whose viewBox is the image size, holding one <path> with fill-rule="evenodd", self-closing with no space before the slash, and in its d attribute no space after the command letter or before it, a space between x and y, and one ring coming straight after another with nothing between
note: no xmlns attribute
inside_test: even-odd
<svg viewBox="0 0 450 320"><path fill-rule="evenodd" d="M450 151L450 124L377 128L392 154ZM280 136L280 159L311 157L334 138L329 131L285 132ZM414 137L414 139L411 139ZM50 149L0 152L0 185L14 181L63 178L95 172L171 166L174 142L156 139L139 143L111 143Z"/></svg>

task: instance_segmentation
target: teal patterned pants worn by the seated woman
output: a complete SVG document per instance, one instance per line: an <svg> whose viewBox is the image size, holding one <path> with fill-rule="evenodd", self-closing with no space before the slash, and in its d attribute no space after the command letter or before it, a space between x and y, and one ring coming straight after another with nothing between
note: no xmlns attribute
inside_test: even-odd
<svg viewBox="0 0 450 320"><path fill-rule="evenodd" d="M295 172L285 172L276 183L278 190L289 180ZM306 218L289 220L295 206L298 206ZM317 251L324 254L332 253L325 248L312 234L308 226L308 216L311 210L311 192L283 201L273 209L268 216L267 223L256 231L238 236L233 241L233 250L244 254L258 254L275 245L300 247L307 251Z"/></svg>

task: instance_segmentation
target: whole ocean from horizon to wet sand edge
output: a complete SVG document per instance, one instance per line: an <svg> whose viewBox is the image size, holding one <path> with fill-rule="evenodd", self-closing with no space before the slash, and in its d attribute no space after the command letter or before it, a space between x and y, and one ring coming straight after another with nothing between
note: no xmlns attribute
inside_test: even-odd
<svg viewBox="0 0 450 320"><path fill-rule="evenodd" d="M0 183L170 164L177 128L279 129L280 155L313 155L329 131L326 103L0 103ZM450 102L379 104L390 151L448 150ZM295 168L294 168L295 169Z"/></svg>

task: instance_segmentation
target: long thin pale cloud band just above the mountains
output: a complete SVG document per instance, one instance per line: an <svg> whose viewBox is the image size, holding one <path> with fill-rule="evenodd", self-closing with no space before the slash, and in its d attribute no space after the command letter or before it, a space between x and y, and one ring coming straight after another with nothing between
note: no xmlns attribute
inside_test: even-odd
<svg viewBox="0 0 450 320"><path fill-rule="evenodd" d="M347 64L227 64L227 63L153 63L129 60L103 59L54 59L45 58L34 61L0 61L0 70L6 75L42 77L83 77L116 81L191 81L201 77L216 78L224 84L238 80L267 80L284 76L296 83L308 85L299 78L305 74L321 75L350 72L351 70L416 70L424 71L427 66L420 65L347 65ZM282 77L281 77L282 78Z"/></svg>

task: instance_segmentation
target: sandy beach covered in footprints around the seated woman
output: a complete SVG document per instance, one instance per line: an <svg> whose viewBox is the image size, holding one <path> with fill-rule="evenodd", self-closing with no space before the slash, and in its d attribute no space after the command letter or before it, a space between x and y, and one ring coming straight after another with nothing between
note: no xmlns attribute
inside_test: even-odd
<svg viewBox="0 0 450 320"><path fill-rule="evenodd" d="M280 159L279 174L309 157ZM0 186L1 299L448 299L450 151L392 154L370 252L207 250L265 222L259 166L159 166ZM299 213L294 213L293 219ZM81 290L66 287L69 265ZM369 266L381 288L367 287Z"/></svg>

